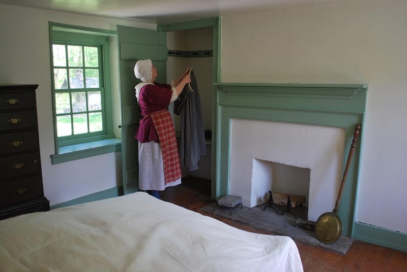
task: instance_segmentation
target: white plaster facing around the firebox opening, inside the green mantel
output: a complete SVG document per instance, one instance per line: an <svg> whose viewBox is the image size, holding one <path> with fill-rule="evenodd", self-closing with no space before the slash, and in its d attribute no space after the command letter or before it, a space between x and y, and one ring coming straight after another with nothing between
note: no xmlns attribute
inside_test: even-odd
<svg viewBox="0 0 407 272"><path fill-rule="evenodd" d="M252 183L253 158L309 168L308 220L316 221L335 206L342 180L344 141L344 128L232 119L230 194L242 196L247 207L257 205L257 197L264 196L264 188L257 189L263 184ZM259 194L252 196L252 191ZM252 201L252 197L256 199Z"/></svg>

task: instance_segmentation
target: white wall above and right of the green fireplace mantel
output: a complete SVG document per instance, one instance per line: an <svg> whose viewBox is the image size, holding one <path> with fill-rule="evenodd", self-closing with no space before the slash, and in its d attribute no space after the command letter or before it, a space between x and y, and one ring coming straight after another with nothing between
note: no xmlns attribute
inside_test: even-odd
<svg viewBox="0 0 407 272"><path fill-rule="evenodd" d="M405 0L366 0L224 16L221 52L222 82L368 84L357 221L402 233L406 14Z"/></svg>

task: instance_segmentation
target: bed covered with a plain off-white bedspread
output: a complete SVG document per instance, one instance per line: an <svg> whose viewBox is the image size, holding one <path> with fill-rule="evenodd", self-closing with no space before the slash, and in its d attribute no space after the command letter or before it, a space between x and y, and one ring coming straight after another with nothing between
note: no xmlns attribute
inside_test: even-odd
<svg viewBox="0 0 407 272"><path fill-rule="evenodd" d="M144 192L0 221L0 271L303 271L287 236Z"/></svg>

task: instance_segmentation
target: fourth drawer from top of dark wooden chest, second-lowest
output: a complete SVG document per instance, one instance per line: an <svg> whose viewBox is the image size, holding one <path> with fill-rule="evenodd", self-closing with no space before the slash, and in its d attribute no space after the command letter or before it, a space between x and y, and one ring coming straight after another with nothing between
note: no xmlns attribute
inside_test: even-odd
<svg viewBox="0 0 407 272"><path fill-rule="evenodd" d="M41 174L40 153L28 153L0 159L0 183L25 175Z"/></svg>

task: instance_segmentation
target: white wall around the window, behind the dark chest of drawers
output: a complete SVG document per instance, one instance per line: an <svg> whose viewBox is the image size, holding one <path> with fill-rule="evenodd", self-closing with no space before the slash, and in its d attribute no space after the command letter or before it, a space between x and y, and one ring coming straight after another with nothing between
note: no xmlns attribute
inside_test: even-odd
<svg viewBox="0 0 407 272"><path fill-rule="evenodd" d="M155 25L0 5L0 84L39 84L38 125L45 196L54 205L122 184L121 152L52 165L54 133L48 21L116 30L116 25ZM113 42L112 49L117 48ZM113 103L119 103L117 52L111 55ZM113 67L114 68L114 67ZM118 112L118 109L114 109ZM115 118L115 127L120 118ZM117 132L117 131L116 131Z"/></svg>

